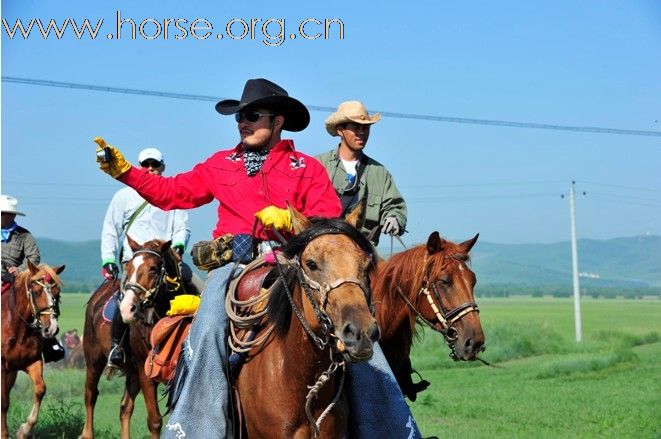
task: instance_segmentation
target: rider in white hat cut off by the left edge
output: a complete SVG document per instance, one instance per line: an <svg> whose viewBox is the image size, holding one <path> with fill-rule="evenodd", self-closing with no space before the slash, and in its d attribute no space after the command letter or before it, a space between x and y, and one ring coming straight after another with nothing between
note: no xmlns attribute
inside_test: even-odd
<svg viewBox="0 0 661 439"><path fill-rule="evenodd" d="M41 262L39 247L30 231L16 224L16 215L25 216L18 210L18 200L9 195L0 195L2 209L2 292L8 291L14 278L27 270L28 261L35 265ZM44 361L64 358L64 347L56 338L44 339Z"/></svg>

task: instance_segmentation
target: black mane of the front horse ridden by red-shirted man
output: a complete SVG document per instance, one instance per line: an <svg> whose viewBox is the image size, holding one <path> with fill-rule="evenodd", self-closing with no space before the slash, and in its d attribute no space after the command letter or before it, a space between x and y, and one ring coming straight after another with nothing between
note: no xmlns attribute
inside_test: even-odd
<svg viewBox="0 0 661 439"><path fill-rule="evenodd" d="M346 235L351 238L358 247L365 253L371 256L372 261L375 261L374 246L358 229L346 223L342 219L337 218L311 218L311 227L300 232L298 235L293 236L283 247L282 252L291 259L299 256L305 247L314 238L321 235ZM372 266L374 263L372 263ZM282 266L282 273L278 276L278 280L274 283L273 289L269 296L268 302L268 317L269 321L273 324L276 333L283 334L289 329L291 321L292 308L287 298L285 288L289 288L291 292L296 279L296 268L294 266ZM279 270L276 268L276 270ZM284 282L282 277L284 276Z"/></svg>

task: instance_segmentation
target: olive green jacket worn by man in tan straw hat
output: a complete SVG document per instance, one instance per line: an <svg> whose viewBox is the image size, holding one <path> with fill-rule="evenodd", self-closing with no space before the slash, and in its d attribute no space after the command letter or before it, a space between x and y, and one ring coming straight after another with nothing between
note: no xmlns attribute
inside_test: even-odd
<svg viewBox="0 0 661 439"><path fill-rule="evenodd" d="M357 201L366 199L365 224L361 232L367 236L372 229L383 224L387 217L394 216L399 223L401 235L406 228L406 202L399 193L390 172L381 163L364 155L367 158L367 165L360 179L360 190L356 199ZM341 196L347 189L347 171L342 166L338 148L318 155L316 158L328 171L335 192ZM375 245L379 243L379 235L380 233L374 235Z"/></svg>

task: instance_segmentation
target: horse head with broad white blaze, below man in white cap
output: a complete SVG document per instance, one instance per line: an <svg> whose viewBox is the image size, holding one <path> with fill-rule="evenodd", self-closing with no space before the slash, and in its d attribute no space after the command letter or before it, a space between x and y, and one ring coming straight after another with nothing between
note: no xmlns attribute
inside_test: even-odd
<svg viewBox="0 0 661 439"><path fill-rule="evenodd" d="M180 258L172 241L154 239L140 245L129 236L127 240L133 257L126 263L119 310L125 323L151 324L159 295L181 288Z"/></svg>

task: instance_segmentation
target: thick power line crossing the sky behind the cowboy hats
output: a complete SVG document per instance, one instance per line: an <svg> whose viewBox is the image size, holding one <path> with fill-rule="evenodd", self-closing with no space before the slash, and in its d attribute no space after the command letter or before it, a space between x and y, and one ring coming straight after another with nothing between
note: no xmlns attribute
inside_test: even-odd
<svg viewBox="0 0 661 439"><path fill-rule="evenodd" d="M25 85L36 85L42 87L60 87L60 88L73 88L79 90L91 90L106 93L122 93L131 95L142 96L156 96L170 99L184 99L193 101L207 101L216 102L223 98L208 95L196 95L187 93L173 93L155 90L143 90L135 88L122 88L122 87L108 87L93 84L80 84L75 82L62 82L62 81L49 81L43 79L20 78L15 76L3 76L2 80L5 82ZM333 112L335 107L307 105L310 110ZM591 127L591 126L571 126L571 125L555 125L546 123L531 123L531 122L515 122L506 120L492 120L492 119L474 119L466 117L451 117L451 116L434 116L425 114L412 114L412 113L396 113L391 111L378 111L382 116L392 117L398 119L413 119L413 120L427 120L431 122L448 122L472 125L489 125L489 126L502 126L510 128L533 128L542 130L554 131L574 131L581 133L597 133L597 134L618 134L625 136L648 136L648 137L661 137L661 131L644 131L644 130L627 130L619 128L604 128L604 127Z"/></svg>

